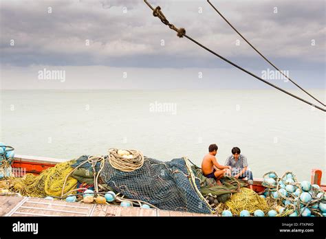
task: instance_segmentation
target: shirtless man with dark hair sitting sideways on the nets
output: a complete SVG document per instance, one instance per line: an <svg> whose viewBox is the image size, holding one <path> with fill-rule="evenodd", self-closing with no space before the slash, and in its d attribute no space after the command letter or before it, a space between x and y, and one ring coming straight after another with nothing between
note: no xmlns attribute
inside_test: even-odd
<svg viewBox="0 0 326 239"><path fill-rule="evenodd" d="M230 174L230 166L221 166L217 163L215 155L217 154L217 145L210 144L208 147L208 154L205 155L202 162L202 171L205 177L213 178L216 182L221 185L219 179L224 176L224 174Z"/></svg>

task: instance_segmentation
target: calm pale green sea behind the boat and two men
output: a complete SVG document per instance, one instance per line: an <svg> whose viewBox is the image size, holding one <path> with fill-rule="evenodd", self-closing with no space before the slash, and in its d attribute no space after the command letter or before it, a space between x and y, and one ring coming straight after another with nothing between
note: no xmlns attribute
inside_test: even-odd
<svg viewBox="0 0 326 239"><path fill-rule="evenodd" d="M325 102L324 90L310 92ZM326 182L325 113L275 90L2 91L1 141L17 155L133 148L197 165L216 143L219 163L241 148L254 177L293 171L310 180L321 168Z"/></svg>

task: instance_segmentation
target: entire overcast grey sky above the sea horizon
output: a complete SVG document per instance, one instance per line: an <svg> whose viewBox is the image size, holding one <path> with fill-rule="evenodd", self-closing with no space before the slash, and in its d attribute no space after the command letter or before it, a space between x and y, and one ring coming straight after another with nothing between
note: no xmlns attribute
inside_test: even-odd
<svg viewBox="0 0 326 239"><path fill-rule="evenodd" d="M272 69L204 0L149 1L188 36L261 76ZM307 88L325 89L325 1L217 1L265 56ZM136 1L0 2L2 89L254 88L263 83L178 38ZM237 44L239 43L239 44ZM65 79L40 79L40 71ZM199 77L200 76L200 77ZM291 87L282 79L269 79Z"/></svg>

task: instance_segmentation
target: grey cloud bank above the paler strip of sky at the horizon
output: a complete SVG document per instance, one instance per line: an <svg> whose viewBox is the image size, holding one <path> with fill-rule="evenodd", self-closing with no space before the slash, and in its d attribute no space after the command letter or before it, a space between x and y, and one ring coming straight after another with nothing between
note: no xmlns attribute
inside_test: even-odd
<svg viewBox="0 0 326 239"><path fill-rule="evenodd" d="M323 1L212 2L261 52L284 67L316 69L325 64ZM151 3L161 5L172 23L186 27L189 35L220 54L245 66L263 66L243 41L235 45L239 36L206 1ZM47 14L49 6L52 14ZM124 6L127 14L122 12ZM199 7L203 14L198 13ZM6 65L225 67L196 45L177 38L142 1L18 1L1 3L0 11L1 63ZM15 40L14 47L9 46L10 39ZM85 46L87 39L89 46Z"/></svg>

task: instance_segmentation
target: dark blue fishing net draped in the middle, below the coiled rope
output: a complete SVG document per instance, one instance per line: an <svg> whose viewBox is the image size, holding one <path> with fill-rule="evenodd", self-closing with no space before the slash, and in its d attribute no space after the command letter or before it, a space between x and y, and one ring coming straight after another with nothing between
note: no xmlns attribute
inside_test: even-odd
<svg viewBox="0 0 326 239"><path fill-rule="evenodd" d="M75 166L85 159L77 159ZM162 162L144 157L142 167L131 172L113 168L106 160L101 179L114 192L151 203L160 209L210 213L209 205L198 191L200 181L195 179L186 160L180 158ZM87 168L87 163L84 166Z"/></svg>

